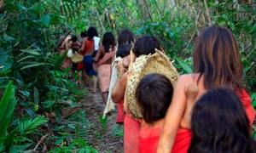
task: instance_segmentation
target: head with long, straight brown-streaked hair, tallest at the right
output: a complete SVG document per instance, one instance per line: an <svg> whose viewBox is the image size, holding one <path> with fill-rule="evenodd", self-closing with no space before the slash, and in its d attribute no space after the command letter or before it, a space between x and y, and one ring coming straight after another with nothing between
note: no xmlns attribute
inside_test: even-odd
<svg viewBox="0 0 256 153"><path fill-rule="evenodd" d="M204 75L204 86L242 88L242 65L239 48L232 32L211 26L197 37L193 50L194 71Z"/></svg>

